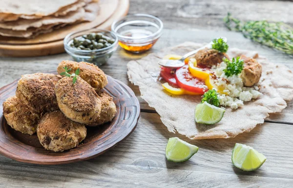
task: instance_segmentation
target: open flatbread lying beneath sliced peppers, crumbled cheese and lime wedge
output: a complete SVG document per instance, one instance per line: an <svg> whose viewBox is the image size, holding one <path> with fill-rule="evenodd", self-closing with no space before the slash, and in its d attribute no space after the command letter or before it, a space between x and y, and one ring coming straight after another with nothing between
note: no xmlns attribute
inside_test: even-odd
<svg viewBox="0 0 293 188"><path fill-rule="evenodd" d="M227 107L223 119L215 125L196 124L194 110L201 102L201 96L165 92L159 81L158 61L167 54L184 55L201 46L203 44L185 42L165 48L159 54L149 54L127 63L129 81L139 86L141 97L150 107L156 109L169 132L178 132L190 139L235 137L239 133L250 132L259 123L264 123L269 113L281 112L287 106L286 101L293 99L291 70L285 65L270 63L265 57L258 56L257 52L232 48L228 51L230 57L246 55L256 58L262 64L259 91L263 95L244 102L244 107L237 110Z"/></svg>

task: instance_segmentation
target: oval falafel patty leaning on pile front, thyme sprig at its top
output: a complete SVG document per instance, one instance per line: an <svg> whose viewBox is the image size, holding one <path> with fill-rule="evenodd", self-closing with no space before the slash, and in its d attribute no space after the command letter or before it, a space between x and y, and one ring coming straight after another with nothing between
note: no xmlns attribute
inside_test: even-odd
<svg viewBox="0 0 293 188"><path fill-rule="evenodd" d="M101 113L101 100L95 90L82 78L63 77L55 87L60 110L72 121L89 124Z"/></svg>

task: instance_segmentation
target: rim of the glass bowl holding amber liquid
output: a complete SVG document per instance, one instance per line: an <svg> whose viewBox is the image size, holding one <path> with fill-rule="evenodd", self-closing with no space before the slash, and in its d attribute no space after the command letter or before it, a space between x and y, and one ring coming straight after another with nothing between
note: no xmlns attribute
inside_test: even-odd
<svg viewBox="0 0 293 188"><path fill-rule="evenodd" d="M126 18L130 18L130 17L148 17L148 18L152 18L152 19L155 19L157 21L159 21L160 23L160 28L158 29L158 31L156 31L155 33L151 34L151 35L148 35L148 36L145 36L145 37L139 37L139 38L135 38L135 37L126 37L126 36L123 36L123 35L120 35L119 33L117 33L114 29L114 25L118 22L118 21L121 21L123 19L126 19ZM156 35L160 35L160 33L162 32L163 30L163 27L164 27L164 24L163 24L163 21L155 16L152 16L152 15L149 15L149 14L131 14L131 15L127 15L125 17L122 17L121 19L117 19L115 20L112 25L111 25L111 31L114 32L116 34L116 36L118 36L119 38L126 38L126 39L144 39L144 38L152 38Z"/></svg>

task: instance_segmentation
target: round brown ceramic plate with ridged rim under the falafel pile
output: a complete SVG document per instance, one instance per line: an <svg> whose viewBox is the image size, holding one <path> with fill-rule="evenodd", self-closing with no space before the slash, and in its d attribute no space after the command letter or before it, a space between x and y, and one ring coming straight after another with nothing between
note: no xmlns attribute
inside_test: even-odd
<svg viewBox="0 0 293 188"><path fill-rule="evenodd" d="M42 165L83 161L104 153L133 132L140 115L140 105L133 91L119 80L108 76L103 89L113 97L117 113L112 122L87 128L87 136L78 147L54 152L43 149L37 134L28 135L13 130L3 116L2 103L15 95L17 81L0 88L0 153L11 159Z"/></svg>

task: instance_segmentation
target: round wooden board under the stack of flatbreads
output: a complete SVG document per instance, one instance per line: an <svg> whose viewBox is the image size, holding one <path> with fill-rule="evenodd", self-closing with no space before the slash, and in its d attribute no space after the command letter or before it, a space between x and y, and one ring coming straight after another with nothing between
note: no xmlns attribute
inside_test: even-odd
<svg viewBox="0 0 293 188"><path fill-rule="evenodd" d="M0 56L28 57L63 53L63 39L67 34L94 27L110 30L114 20L127 15L128 8L129 0L100 0L100 12L94 21L68 25L32 39L0 37Z"/></svg>

